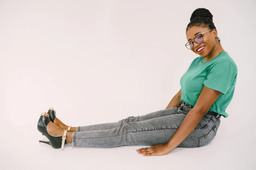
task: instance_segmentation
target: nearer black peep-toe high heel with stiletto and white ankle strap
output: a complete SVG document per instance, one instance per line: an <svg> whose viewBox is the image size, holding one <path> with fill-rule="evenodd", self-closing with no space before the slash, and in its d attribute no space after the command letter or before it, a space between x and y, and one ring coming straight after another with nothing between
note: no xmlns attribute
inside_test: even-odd
<svg viewBox="0 0 256 170"><path fill-rule="evenodd" d="M58 148L63 149L64 145L68 144L68 141L66 139L67 130L64 131L63 136L50 135L48 130L47 130L47 126L51 122L51 119L49 118L49 116L45 116L44 115L45 113L46 112L43 112L41 114L41 116L38 120L38 123L37 123L37 129L38 129L39 132L41 132L43 135L45 135L49 139L49 142L42 141L42 140L40 140L39 142L51 145L55 149L58 149ZM61 141L61 139L62 139L62 141Z"/></svg>

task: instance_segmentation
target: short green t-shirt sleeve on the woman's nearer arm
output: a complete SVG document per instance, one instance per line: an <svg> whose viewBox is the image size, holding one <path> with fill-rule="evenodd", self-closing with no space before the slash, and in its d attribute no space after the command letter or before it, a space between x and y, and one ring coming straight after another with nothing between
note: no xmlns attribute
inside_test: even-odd
<svg viewBox="0 0 256 170"><path fill-rule="evenodd" d="M213 90L224 94L229 90L237 70L230 61L224 61L213 65L203 84Z"/></svg>

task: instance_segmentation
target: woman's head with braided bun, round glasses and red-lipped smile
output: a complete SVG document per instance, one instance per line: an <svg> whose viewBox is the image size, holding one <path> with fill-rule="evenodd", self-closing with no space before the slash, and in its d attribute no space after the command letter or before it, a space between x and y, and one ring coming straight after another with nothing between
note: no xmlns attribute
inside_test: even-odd
<svg viewBox="0 0 256 170"><path fill-rule="evenodd" d="M213 23L213 15L208 9L196 9L186 28L188 42L186 47L204 57L204 62L210 61L223 52L217 30Z"/></svg>

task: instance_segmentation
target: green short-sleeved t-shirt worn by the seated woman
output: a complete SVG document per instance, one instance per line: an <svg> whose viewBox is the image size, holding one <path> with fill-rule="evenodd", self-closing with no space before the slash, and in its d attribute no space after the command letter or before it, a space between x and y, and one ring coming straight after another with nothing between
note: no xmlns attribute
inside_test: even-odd
<svg viewBox="0 0 256 170"><path fill-rule="evenodd" d="M233 97L237 67L226 51L221 52L208 62L203 62L204 57L197 57L190 64L188 70L180 78L181 101L191 106L196 101L205 85L208 88L222 92L213 103L209 111L217 112L227 118L225 112Z"/></svg>

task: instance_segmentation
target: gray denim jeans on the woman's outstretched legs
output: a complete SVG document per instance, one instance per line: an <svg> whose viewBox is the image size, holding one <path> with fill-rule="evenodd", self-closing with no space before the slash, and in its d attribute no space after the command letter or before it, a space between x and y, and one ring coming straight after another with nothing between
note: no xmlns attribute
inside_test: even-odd
<svg viewBox="0 0 256 170"><path fill-rule="evenodd" d="M113 123L78 126L72 133L74 147L112 148L123 145L166 144L192 108L185 106L159 110L142 116L129 116ZM196 148L209 144L220 125L219 114L206 114L177 147Z"/></svg>

